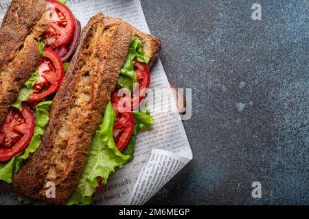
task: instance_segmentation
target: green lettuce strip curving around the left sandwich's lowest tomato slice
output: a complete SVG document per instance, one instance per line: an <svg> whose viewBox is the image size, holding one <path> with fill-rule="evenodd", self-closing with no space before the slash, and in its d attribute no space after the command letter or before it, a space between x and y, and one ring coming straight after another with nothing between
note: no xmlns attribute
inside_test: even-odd
<svg viewBox="0 0 309 219"><path fill-rule="evenodd" d="M41 136L45 131L45 125L49 120L49 106L51 104L52 101L46 101L36 105L36 126L34 127L32 139L23 153L16 155L9 162L0 162L0 180L12 183L13 174L19 170L23 160L38 149L41 144Z"/></svg>

